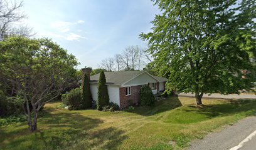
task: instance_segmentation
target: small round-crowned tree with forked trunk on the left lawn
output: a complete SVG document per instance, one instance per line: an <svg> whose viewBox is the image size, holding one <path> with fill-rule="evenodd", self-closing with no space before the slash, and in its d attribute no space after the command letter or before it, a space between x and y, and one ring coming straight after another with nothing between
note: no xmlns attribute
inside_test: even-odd
<svg viewBox="0 0 256 150"><path fill-rule="evenodd" d="M77 59L50 39L11 37L0 42L1 83L24 99L28 125L37 129L40 109L75 78Z"/></svg>

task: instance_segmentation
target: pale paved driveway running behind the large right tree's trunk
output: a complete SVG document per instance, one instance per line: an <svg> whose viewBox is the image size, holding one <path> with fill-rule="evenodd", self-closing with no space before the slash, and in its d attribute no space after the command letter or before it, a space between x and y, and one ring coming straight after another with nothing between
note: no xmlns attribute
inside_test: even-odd
<svg viewBox="0 0 256 150"><path fill-rule="evenodd" d="M188 96L195 97L195 94L192 93L179 93L179 96ZM230 95L221 95L221 94L204 94L203 98L223 98L223 99L256 99L256 95L253 94L230 94Z"/></svg>

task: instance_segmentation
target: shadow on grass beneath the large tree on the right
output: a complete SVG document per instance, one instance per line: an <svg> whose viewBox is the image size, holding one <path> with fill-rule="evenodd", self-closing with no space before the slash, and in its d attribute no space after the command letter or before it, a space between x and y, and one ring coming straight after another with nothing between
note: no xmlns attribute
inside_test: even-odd
<svg viewBox="0 0 256 150"><path fill-rule="evenodd" d="M244 113L245 116L253 116L256 113L256 99L223 99L218 104L203 105L200 108L189 106L189 108L192 109L185 109L184 111L203 114L208 118L240 113Z"/></svg>

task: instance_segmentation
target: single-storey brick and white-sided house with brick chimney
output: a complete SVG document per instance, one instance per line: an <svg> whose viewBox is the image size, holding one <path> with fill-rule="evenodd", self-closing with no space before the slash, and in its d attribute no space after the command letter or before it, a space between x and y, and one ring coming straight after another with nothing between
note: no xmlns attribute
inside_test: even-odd
<svg viewBox="0 0 256 150"><path fill-rule="evenodd" d="M92 99L97 102L98 82L100 74L90 76L90 69L82 69L82 76L87 74L90 80ZM152 76L146 71L117 71L105 72L106 85L109 92L110 102L116 103L120 108L129 106L129 102L140 103L141 86L149 85L153 94L164 91L166 78ZM83 83L83 81L82 81Z"/></svg>

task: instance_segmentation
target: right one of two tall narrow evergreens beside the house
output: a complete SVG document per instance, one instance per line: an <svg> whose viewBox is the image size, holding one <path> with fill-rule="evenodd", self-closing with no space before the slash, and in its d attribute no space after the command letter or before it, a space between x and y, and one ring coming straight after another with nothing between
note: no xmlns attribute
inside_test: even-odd
<svg viewBox="0 0 256 150"><path fill-rule="evenodd" d="M97 109L109 105L109 93L107 91L106 78L104 71L100 72L99 84L98 84L98 103Z"/></svg>

